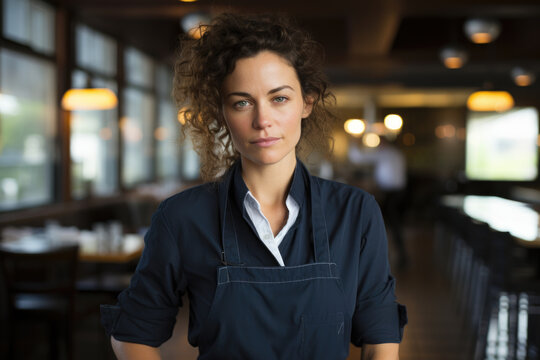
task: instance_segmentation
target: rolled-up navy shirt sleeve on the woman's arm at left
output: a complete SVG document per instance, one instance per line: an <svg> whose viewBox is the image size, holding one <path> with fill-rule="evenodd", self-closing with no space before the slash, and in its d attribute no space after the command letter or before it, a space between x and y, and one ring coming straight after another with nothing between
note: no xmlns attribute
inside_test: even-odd
<svg viewBox="0 0 540 360"><path fill-rule="evenodd" d="M115 306L101 306L101 322L109 336L154 347L171 337L186 288L177 241L160 206L129 288Z"/></svg>

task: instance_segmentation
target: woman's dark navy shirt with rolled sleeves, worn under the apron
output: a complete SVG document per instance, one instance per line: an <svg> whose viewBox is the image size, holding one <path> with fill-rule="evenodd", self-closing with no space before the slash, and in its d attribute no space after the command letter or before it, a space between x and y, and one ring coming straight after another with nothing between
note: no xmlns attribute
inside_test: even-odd
<svg viewBox="0 0 540 360"><path fill-rule="evenodd" d="M279 245L285 266L314 262L310 240L308 179L298 161L289 194L300 212ZM306 172L307 174L307 172ZM242 261L249 266L279 266L258 238L243 206L248 191L239 163L229 189ZM313 177L320 185L332 262L337 264L352 317L351 342L398 343L406 312L395 302L382 216L373 196L334 181ZM190 303L188 340L197 346L222 266L219 187L207 183L161 203L145 236L145 249L131 285L116 306L102 307L102 322L117 340L159 346L171 335L182 296ZM291 299L294 301L294 299Z"/></svg>

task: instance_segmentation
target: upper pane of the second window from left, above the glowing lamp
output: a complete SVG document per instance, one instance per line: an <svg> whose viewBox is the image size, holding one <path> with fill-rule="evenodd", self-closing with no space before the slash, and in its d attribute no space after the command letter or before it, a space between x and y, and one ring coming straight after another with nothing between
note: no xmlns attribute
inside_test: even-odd
<svg viewBox="0 0 540 360"><path fill-rule="evenodd" d="M77 66L103 75L116 74L116 42L85 25L75 30Z"/></svg>

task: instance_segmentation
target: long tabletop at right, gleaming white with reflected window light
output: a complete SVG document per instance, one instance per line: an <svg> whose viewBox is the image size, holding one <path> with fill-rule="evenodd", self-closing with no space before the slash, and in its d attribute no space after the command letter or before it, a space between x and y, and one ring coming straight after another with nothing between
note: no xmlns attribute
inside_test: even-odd
<svg viewBox="0 0 540 360"><path fill-rule="evenodd" d="M510 233L520 246L540 248L540 215L526 203L497 196L446 195L441 204L462 211L495 231Z"/></svg>

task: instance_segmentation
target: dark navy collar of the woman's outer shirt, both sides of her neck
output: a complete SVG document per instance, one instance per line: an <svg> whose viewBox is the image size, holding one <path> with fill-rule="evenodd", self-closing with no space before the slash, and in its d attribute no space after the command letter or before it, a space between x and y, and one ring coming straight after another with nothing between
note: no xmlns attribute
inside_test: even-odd
<svg viewBox="0 0 540 360"><path fill-rule="evenodd" d="M306 197L308 179L304 179L304 173L302 171L302 163L296 159L296 167L293 173L293 179L291 188L289 189L289 195L298 203L298 207L302 207L304 199ZM242 165L240 160L234 165L233 178L233 197L238 209L242 209L242 213L245 212L244 199L249 191L244 179L242 178Z"/></svg>

